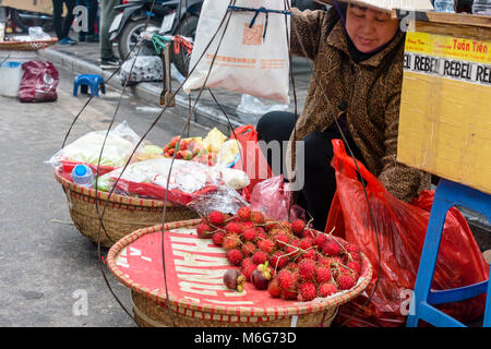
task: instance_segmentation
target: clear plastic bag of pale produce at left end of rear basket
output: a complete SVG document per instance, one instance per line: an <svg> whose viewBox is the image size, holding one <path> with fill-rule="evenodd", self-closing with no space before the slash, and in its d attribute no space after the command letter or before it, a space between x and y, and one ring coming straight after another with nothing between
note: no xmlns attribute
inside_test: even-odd
<svg viewBox="0 0 491 349"><path fill-rule="evenodd" d="M55 168L63 166L63 171L71 171L71 167L75 164L97 166L106 133L107 131L87 133L57 152L47 163ZM139 141L139 135L125 121L118 124L113 130L109 131L104 144L104 152L100 157L101 168L105 168L107 171L123 166ZM144 145L142 143L137 152L141 152ZM101 174L100 171L99 174Z"/></svg>

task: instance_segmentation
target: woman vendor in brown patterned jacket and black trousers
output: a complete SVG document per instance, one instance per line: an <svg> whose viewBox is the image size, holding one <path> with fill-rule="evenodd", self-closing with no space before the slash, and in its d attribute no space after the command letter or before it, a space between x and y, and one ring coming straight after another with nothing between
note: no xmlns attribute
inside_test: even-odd
<svg viewBox="0 0 491 349"><path fill-rule="evenodd" d="M355 157L394 196L410 202L430 186L430 174L396 159L405 34L399 20L364 3L335 2L328 11L292 9L291 53L313 61L321 86L312 76L300 118L274 111L256 127L261 141L289 141L282 157L304 176L298 204L322 231L336 190L331 141L342 139L334 116ZM294 137L303 141L304 168L295 168Z"/></svg>

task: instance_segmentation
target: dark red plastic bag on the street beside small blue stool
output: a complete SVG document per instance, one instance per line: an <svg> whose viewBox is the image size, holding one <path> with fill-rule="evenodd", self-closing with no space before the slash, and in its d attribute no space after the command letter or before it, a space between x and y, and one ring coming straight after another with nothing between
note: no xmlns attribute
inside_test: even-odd
<svg viewBox="0 0 491 349"><path fill-rule="evenodd" d="M28 61L22 64L24 75L19 87L21 101L53 101L58 99L58 70L51 62Z"/></svg>

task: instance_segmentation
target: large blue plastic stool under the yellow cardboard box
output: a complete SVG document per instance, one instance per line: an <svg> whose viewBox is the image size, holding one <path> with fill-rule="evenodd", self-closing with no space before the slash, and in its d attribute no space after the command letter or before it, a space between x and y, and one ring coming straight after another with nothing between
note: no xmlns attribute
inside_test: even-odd
<svg viewBox="0 0 491 349"><path fill-rule="evenodd" d="M407 327L418 326L419 320L440 327L466 327L459 321L432 305L460 301L482 293L488 293L482 326L491 326L491 282L489 282L489 279L488 281L466 287L430 291L446 213L455 205L477 210L491 221L491 195L450 180L440 180L436 186L433 206L431 207L427 237L416 278L415 293L412 294L409 315L406 322Z"/></svg>

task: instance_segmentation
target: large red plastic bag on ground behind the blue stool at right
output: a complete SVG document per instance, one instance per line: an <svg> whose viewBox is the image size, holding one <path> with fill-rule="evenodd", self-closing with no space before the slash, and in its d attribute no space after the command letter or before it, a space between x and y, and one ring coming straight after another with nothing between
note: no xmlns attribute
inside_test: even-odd
<svg viewBox="0 0 491 349"><path fill-rule="evenodd" d="M367 306L363 306L372 294L379 272L375 231L355 161L346 154L340 140L334 140L333 147L332 166L336 170L337 190L325 231L335 227L333 234L358 244L373 267L369 287L354 301L339 308L335 323L358 327L405 326L434 192L423 191L412 205L407 204L390 194L358 161L367 183L368 201L376 222L381 252L379 285ZM446 216L431 288L443 290L468 286L484 281L488 276L489 265L467 221L457 208L452 207ZM486 294L481 294L436 308L466 323L482 315L484 302Z"/></svg>

